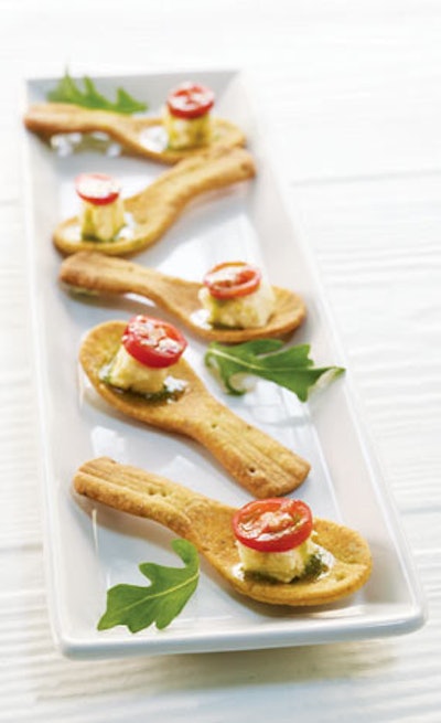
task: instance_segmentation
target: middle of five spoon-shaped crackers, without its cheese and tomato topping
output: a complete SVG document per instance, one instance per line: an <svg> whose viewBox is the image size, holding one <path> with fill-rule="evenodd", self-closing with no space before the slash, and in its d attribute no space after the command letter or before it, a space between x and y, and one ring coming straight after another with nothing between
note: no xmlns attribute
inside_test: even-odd
<svg viewBox="0 0 441 723"><path fill-rule="evenodd" d="M305 317L305 307L297 294L273 287L276 310L265 327L227 329L204 321L197 298L202 284L168 276L154 268L115 258L97 252L78 252L68 256L60 269L60 279L75 289L104 294L139 294L173 313L192 331L208 340L227 343L281 337L293 331Z"/></svg>

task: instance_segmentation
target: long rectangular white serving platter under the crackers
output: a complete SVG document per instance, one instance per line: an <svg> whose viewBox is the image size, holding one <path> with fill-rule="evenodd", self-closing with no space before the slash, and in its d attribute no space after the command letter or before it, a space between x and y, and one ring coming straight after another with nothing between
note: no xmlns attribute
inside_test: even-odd
<svg viewBox="0 0 441 723"><path fill-rule="evenodd" d="M211 86L217 114L241 126L256 158L257 178L192 202L165 236L135 261L193 280L220 261L243 258L260 265L273 284L300 293L306 302L308 320L292 343L310 343L318 364L347 369L314 259L297 231L259 130L246 76L234 70L200 70L94 79L108 97L122 86L146 99L149 113L158 114L166 92L189 77ZM55 78L30 79L25 104L44 100L55 84ZM73 180L83 171L111 173L120 179L123 195L130 195L166 167L123 156L100 138L73 151L66 139L55 149L23 135L45 561L53 632L63 653L110 658L261 649L383 637L420 627L424 600L356 410L351 370L313 393L306 404L265 381L245 396L232 397L204 366L205 343L187 334L186 358L208 390L309 459L312 471L297 497L318 517L352 527L367 539L373 574L362 591L340 603L287 609L239 596L202 559L196 593L165 630L154 626L136 635L125 627L97 630L110 586L143 585L139 563L175 565L176 557L169 530L104 506L78 503L72 479L84 461L110 456L233 506L249 496L196 444L115 413L97 398L78 368L78 348L89 328L154 307L133 296L77 297L58 284L61 257L51 238L55 225L76 213ZM173 321L162 312L158 316Z"/></svg>

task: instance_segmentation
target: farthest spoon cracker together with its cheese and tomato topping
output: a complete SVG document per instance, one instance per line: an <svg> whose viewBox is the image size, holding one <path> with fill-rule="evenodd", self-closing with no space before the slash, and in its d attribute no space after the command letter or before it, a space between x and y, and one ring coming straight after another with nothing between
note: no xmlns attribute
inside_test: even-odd
<svg viewBox="0 0 441 723"><path fill-rule="evenodd" d="M68 78L69 87L72 82ZM196 83L186 82L172 89L162 116L129 115L143 105L126 93L123 103L116 104L97 96L95 107L88 107L87 93L50 94L49 99L56 102L32 105L24 115L24 125L32 132L50 139L61 134L105 134L123 152L160 163L176 163L201 148L244 146L246 140L234 123L212 117L214 94Z"/></svg>

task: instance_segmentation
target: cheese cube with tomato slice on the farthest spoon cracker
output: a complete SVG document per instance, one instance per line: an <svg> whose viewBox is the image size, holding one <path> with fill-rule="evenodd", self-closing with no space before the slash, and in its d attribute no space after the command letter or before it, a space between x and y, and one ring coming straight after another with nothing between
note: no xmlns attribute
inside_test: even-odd
<svg viewBox="0 0 441 723"><path fill-rule="evenodd" d="M189 149L207 146L212 139L211 110L214 93L197 83L181 83L169 93L164 127L169 148Z"/></svg>

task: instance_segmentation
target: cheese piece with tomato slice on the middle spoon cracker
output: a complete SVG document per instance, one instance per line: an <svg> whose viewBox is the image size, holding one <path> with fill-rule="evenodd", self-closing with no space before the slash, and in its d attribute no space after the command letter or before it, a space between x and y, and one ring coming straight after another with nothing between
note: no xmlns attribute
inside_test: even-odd
<svg viewBox="0 0 441 723"><path fill-rule="evenodd" d="M198 298L208 313L208 323L214 327L265 327L276 308L272 287L257 266L245 262L214 266L204 276Z"/></svg>

